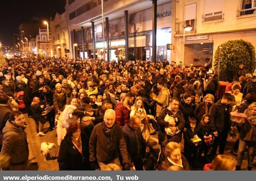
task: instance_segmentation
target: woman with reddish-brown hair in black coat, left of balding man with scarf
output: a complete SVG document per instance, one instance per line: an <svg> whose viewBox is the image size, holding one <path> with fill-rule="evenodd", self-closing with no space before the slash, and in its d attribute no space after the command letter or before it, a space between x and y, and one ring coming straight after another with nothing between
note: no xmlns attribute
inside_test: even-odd
<svg viewBox="0 0 256 181"><path fill-rule="evenodd" d="M72 122L60 143L60 170L92 170L89 161L89 138L80 123Z"/></svg>

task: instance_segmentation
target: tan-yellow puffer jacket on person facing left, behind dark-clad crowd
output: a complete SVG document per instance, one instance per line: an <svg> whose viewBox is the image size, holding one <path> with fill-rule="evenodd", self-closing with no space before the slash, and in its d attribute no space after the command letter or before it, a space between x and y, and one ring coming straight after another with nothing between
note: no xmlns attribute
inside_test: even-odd
<svg viewBox="0 0 256 181"><path fill-rule="evenodd" d="M155 101L156 104L156 116L159 115L162 108L169 104L169 97L170 97L170 91L167 88L164 88L162 91L159 92L157 98Z"/></svg>

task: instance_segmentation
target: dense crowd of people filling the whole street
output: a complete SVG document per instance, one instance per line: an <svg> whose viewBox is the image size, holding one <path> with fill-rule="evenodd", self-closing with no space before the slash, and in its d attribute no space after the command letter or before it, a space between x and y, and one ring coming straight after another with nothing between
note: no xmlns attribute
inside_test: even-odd
<svg viewBox="0 0 256 181"><path fill-rule="evenodd" d="M0 80L2 169L26 170L27 113L37 136L47 134L46 121L56 129L60 170L240 170L247 145L252 170L256 76L243 65L219 100L220 79L208 64L183 69L167 60L17 58L0 68ZM244 113L245 122L233 122L230 112ZM237 159L224 153L234 127Z"/></svg>

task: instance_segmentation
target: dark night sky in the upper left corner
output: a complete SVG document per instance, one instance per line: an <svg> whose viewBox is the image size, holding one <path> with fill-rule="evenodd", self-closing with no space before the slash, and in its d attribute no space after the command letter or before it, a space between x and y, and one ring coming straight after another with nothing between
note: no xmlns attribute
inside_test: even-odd
<svg viewBox="0 0 256 181"><path fill-rule="evenodd" d="M55 13L65 11L66 0L1 0L0 2L0 40L3 46L12 46L14 33L19 32L22 22L38 17L48 20Z"/></svg>

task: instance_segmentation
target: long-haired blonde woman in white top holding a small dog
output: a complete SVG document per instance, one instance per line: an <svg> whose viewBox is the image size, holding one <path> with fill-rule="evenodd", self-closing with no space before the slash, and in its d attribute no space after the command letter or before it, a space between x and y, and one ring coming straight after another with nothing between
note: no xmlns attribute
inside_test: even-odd
<svg viewBox="0 0 256 181"><path fill-rule="evenodd" d="M140 96L135 99L134 105L131 107L130 117L134 115L140 118L140 131L142 133L143 138L146 141L148 141L150 134L154 133L155 129L148 122L147 113L144 109L143 100Z"/></svg>

